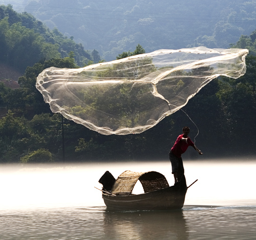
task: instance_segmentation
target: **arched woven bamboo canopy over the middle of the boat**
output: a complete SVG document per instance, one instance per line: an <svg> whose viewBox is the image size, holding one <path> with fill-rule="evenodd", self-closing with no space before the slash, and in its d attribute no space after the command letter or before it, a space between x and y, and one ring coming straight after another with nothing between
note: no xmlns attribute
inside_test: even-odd
<svg viewBox="0 0 256 240"><path fill-rule="evenodd" d="M145 193L169 187L166 178L159 172L133 172L127 170L117 178L111 192L114 194L131 194L138 180Z"/></svg>

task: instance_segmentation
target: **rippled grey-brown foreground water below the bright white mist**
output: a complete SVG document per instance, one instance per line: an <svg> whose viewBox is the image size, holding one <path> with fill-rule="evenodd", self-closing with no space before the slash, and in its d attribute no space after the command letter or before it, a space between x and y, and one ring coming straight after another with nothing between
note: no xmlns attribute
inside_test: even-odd
<svg viewBox="0 0 256 240"><path fill-rule="evenodd" d="M0 239L255 239L255 222L255 206L190 206L180 211L2 210Z"/></svg>

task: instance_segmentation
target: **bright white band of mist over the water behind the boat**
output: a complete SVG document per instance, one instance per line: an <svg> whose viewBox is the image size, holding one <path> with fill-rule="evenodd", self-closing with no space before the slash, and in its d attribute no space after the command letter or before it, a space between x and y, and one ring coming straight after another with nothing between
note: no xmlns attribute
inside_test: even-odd
<svg viewBox="0 0 256 240"><path fill-rule="evenodd" d="M185 205L252 205L256 200L256 161L184 161L187 186ZM158 171L173 185L168 161L1 165L2 209L104 206L98 180L109 170L115 178L125 170ZM134 193L142 192L137 183Z"/></svg>

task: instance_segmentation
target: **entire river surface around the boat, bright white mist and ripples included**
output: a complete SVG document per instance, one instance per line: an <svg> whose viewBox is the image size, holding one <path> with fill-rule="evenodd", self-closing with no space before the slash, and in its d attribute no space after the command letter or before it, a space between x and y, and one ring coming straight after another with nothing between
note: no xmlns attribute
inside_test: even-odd
<svg viewBox="0 0 256 240"><path fill-rule="evenodd" d="M256 159L184 161L181 211L109 211L109 170L159 171L168 161L0 166L0 239L256 239ZM134 193L142 192L140 183Z"/></svg>

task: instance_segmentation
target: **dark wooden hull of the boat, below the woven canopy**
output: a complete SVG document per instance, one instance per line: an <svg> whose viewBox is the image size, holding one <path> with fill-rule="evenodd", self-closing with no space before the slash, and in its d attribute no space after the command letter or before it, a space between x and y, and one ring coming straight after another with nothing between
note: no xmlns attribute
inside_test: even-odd
<svg viewBox="0 0 256 240"><path fill-rule="evenodd" d="M111 195L102 193L107 208L121 210L170 210L181 209L187 191L186 180L171 187L137 195Z"/></svg>

